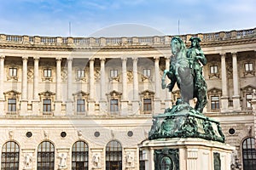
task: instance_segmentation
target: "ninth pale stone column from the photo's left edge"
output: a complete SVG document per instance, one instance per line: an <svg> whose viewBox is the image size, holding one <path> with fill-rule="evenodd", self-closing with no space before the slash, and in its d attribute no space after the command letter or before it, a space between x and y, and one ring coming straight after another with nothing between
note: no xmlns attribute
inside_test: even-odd
<svg viewBox="0 0 256 170"><path fill-rule="evenodd" d="M139 114L139 97L138 97L138 76L137 76L137 57L132 58L132 71L133 71L133 99L132 114Z"/></svg>

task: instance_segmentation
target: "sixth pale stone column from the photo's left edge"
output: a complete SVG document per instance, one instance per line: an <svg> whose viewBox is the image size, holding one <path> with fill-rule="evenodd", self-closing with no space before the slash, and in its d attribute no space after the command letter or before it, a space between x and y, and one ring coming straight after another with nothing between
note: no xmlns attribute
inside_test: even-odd
<svg viewBox="0 0 256 170"><path fill-rule="evenodd" d="M95 78L94 78L94 59L90 59L90 99L88 101L89 103L89 111L88 115L94 115L95 112Z"/></svg>

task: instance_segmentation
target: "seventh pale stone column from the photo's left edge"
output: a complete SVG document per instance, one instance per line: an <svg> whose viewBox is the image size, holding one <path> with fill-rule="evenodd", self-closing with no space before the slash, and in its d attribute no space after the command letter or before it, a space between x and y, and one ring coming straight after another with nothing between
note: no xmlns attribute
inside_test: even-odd
<svg viewBox="0 0 256 170"><path fill-rule="evenodd" d="M106 115L108 112L107 96L106 96L106 73L105 73L105 58L101 58L101 99L100 99L100 114Z"/></svg>

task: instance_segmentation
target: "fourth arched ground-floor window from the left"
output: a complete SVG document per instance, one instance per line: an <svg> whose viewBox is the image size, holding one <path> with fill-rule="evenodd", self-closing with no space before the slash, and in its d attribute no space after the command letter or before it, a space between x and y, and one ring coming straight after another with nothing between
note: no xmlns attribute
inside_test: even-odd
<svg viewBox="0 0 256 170"><path fill-rule="evenodd" d="M115 140L106 146L106 169L122 170L122 145Z"/></svg>

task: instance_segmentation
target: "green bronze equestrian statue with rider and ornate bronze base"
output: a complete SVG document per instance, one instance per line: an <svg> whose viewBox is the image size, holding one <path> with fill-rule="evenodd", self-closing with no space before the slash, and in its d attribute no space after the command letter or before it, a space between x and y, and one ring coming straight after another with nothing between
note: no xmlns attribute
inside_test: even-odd
<svg viewBox="0 0 256 170"><path fill-rule="evenodd" d="M191 47L187 49L181 38L172 38L173 56L169 70L164 71L161 85L172 92L177 83L181 98L163 114L153 116L148 139L201 138L224 142L219 122L202 114L207 105L207 83L201 65L206 65L207 59L201 50L200 38L191 37L189 40ZM171 80L167 86L166 76ZM194 98L197 99L195 108L189 105L189 99Z"/></svg>

